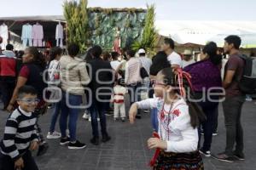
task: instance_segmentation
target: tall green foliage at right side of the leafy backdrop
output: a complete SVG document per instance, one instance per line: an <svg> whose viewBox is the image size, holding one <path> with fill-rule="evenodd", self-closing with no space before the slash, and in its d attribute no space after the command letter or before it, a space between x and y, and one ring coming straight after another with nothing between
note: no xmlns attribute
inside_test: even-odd
<svg viewBox="0 0 256 170"><path fill-rule="evenodd" d="M146 49L147 52L153 53L154 47L157 39L157 32L154 27L154 5L148 6L148 12L145 19L145 27L143 30L143 37L140 42L134 42L131 45L133 50L138 50L139 48Z"/></svg>

